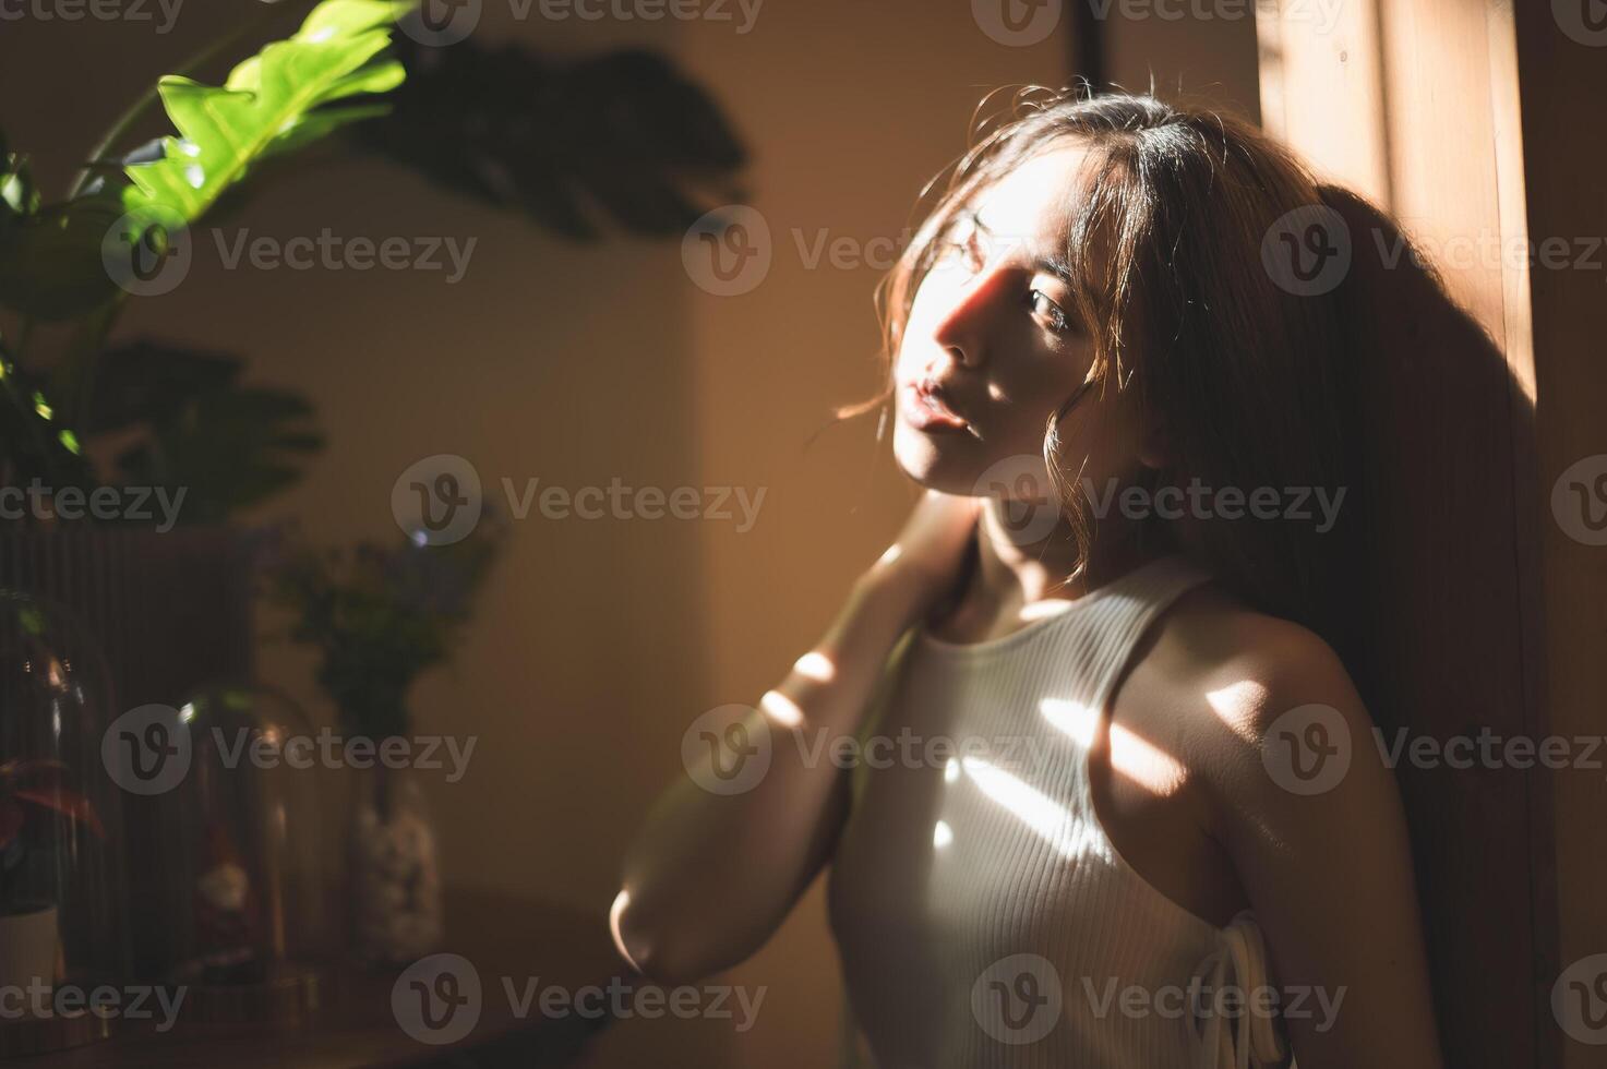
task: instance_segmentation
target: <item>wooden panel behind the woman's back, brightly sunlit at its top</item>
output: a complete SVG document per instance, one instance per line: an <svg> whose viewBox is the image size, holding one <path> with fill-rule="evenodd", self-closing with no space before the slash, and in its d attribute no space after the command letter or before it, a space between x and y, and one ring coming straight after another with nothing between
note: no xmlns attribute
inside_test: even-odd
<svg viewBox="0 0 1607 1069"><path fill-rule="evenodd" d="M1366 0L1334 27L1258 8L1266 125L1400 219L1466 313L1398 262L1364 285L1368 383L1363 686L1385 730L1441 743L1541 738L1528 238L1511 8ZM1351 220L1358 267L1387 225ZM1517 260L1514 264L1514 260ZM1368 296L1371 294L1371 296ZM1493 339L1493 341L1491 341ZM1551 786L1512 767L1398 770L1450 1066L1554 1066Z"/></svg>

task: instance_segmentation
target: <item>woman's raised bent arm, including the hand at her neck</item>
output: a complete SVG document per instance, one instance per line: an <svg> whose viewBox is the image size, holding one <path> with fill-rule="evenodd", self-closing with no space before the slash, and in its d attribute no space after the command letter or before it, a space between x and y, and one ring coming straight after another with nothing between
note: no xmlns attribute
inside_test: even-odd
<svg viewBox="0 0 1607 1069"><path fill-rule="evenodd" d="M927 492L826 635L736 733L710 735L718 757L710 747L652 805L611 913L614 942L638 971L664 982L718 973L787 915L847 815L848 778L831 743L857 733L887 656L953 584L974 524L974 498ZM767 746L768 768L752 784L738 773L736 793L707 789L722 784L717 759L726 775L739 768L734 746Z"/></svg>

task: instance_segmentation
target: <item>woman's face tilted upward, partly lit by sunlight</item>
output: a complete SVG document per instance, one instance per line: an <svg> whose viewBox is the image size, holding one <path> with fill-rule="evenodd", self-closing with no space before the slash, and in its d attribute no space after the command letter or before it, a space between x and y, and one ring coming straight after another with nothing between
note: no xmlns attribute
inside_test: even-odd
<svg viewBox="0 0 1607 1069"><path fill-rule="evenodd" d="M916 482L966 497L1053 495L1045 428L1093 365L1064 264L1082 161L1064 141L979 193L921 281L893 370L893 455ZM1062 477L1082 471L1102 492L1133 473L1135 394L1096 384L1061 416Z"/></svg>

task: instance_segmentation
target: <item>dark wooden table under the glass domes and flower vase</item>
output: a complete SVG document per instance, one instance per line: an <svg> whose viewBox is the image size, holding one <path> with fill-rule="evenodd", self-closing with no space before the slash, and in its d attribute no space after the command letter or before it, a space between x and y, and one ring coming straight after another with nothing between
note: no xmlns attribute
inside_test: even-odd
<svg viewBox="0 0 1607 1069"><path fill-rule="evenodd" d="M519 992L534 977L540 977L542 989L575 992L630 976L603 913L485 891L447 892L442 952L466 958L482 987L477 1022L452 1043L416 1038L399 1019L392 990L400 971L337 966L320 976L318 1008L299 1024L196 1024L180 1014L169 1032L157 1034L149 1022L114 1019L108 1040L3 1064L19 1069L349 1069L437 1061L521 1069L564 1066L607 1018L574 1011L543 1016L538 1003L521 1014L508 998L505 977ZM410 1024L416 1032L418 1022Z"/></svg>

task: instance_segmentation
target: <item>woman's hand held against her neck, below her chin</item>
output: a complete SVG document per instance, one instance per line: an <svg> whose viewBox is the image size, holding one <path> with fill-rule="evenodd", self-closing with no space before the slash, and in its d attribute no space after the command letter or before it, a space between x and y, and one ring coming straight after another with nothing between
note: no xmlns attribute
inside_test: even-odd
<svg viewBox="0 0 1607 1069"><path fill-rule="evenodd" d="M980 516L980 498L927 490L861 584L892 596L914 624L953 592Z"/></svg>

